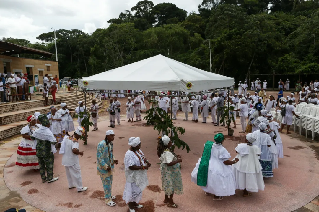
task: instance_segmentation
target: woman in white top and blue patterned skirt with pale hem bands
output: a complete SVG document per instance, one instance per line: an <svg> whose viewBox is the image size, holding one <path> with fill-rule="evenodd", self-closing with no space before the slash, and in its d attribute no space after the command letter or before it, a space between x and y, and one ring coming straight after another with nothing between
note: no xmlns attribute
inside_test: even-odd
<svg viewBox="0 0 319 212"><path fill-rule="evenodd" d="M255 131L253 134L257 137L257 140L253 142L253 145L256 145L260 148L261 154L259 157L259 162L263 168L262 173L263 177L273 177L272 166L271 166L271 154L270 148L273 144L270 135L265 132L267 128L265 123L259 124L259 130Z"/></svg>

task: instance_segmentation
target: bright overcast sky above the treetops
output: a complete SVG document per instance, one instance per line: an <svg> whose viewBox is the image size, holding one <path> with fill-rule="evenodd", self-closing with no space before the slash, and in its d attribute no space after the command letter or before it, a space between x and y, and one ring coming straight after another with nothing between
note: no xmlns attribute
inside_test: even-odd
<svg viewBox="0 0 319 212"><path fill-rule="evenodd" d="M54 29L79 29L91 33L108 27L107 21L131 10L138 0L0 0L0 38L23 38L31 42ZM154 5L170 2L198 12L202 0L153 0Z"/></svg>

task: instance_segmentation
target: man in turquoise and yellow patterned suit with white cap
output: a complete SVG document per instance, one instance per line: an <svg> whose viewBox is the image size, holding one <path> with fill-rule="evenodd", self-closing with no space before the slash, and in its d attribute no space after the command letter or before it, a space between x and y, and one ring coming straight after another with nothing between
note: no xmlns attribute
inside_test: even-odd
<svg viewBox="0 0 319 212"><path fill-rule="evenodd" d="M115 196L112 196L112 182L114 164L118 163L113 155L113 141L115 134L113 130L106 131L105 139L97 147L97 174L101 177L104 188L105 204L115 206Z"/></svg>

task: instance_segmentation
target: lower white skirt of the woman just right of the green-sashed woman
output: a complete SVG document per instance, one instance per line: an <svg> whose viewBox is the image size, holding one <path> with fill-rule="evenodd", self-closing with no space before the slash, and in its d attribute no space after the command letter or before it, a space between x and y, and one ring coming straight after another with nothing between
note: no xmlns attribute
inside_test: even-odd
<svg viewBox="0 0 319 212"><path fill-rule="evenodd" d="M265 184L263 182L263 173L261 170L256 174L247 174L238 171L236 168L232 167L233 174L236 179L236 189L244 190L250 192L258 192L258 190L264 190Z"/></svg>

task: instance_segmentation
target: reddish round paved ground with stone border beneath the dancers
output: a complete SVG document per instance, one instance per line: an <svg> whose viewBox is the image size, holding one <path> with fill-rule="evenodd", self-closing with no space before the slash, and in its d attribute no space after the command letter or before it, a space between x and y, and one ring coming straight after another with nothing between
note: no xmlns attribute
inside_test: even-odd
<svg viewBox="0 0 319 212"><path fill-rule="evenodd" d="M105 137L108 129L108 117L101 117L98 123L99 130L89 133L88 145L81 147L84 156L80 158L82 179L89 189L83 193L67 188L67 180L64 167L61 165L61 155L55 155L54 176L60 179L54 183L42 183L39 172L20 171L14 167L16 149L21 137L16 136L5 140L0 145L0 211L10 207L26 208L27 211L48 212L59 211L128 211L122 201L125 175L123 159L129 148L128 138L139 136L142 141L142 150L146 158L151 161L152 167L148 171L149 187L143 192L141 203L143 209L139 212L172 211L163 206L164 194L158 190L160 186L159 162L156 155L158 133L151 126L142 123L128 123L124 117L120 126L115 127L114 154L120 161L115 168L113 181L113 195L117 196L117 205L114 208L106 206L103 201L103 187L100 177L96 175L96 146ZM214 127L211 124L187 123L182 121L179 114L174 121L176 125L183 126L186 134L181 138L186 141L191 151L187 154L184 150L176 150L182 154L182 177L184 195L175 196L175 203L179 204L174 211L319 211L319 154L317 142L304 141L304 136L281 134L285 157L279 159L279 169L274 170L274 177L265 179L265 191L254 193L249 198L242 197L240 190L236 195L228 196L223 201L212 201L212 196L205 196L204 191L190 182L190 174L203 152L203 144L206 140L212 140L218 132L226 134L223 127ZM105 120L105 121L104 121ZM239 127L239 126L238 126ZM198 133L200 132L200 133ZM236 155L234 147L243 142L243 135L235 130L233 137L226 136L225 147L232 157ZM11 156L12 155L12 156ZM1 172L0 172L1 173ZM4 183L5 181L5 183ZM8 189L8 188L10 189ZM23 199L23 200L21 200ZM311 203L309 203L312 201ZM200 205L200 208L198 207ZM304 206L304 207L303 207ZM301 208L300 208L301 207ZM38 209L37 209L38 208ZM39 210L41 209L41 210Z"/></svg>

